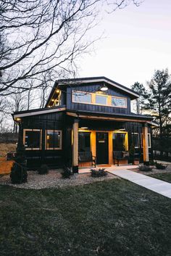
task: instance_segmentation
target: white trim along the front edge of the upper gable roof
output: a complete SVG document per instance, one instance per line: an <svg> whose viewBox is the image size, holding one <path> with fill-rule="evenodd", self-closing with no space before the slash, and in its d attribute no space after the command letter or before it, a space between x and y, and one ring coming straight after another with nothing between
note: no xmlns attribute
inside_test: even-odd
<svg viewBox="0 0 171 256"><path fill-rule="evenodd" d="M116 83L112 83L107 79L91 79L91 80L73 80L73 81L66 81L66 82L59 82L59 85L66 85L66 84L70 84L70 83L92 83L92 82L105 82L105 83L109 83L110 85L119 88L122 91L126 91L128 92L128 94L132 94L133 96L136 96L139 98L138 94L133 93L132 91L128 91L126 88L122 88L122 86L118 86Z"/></svg>

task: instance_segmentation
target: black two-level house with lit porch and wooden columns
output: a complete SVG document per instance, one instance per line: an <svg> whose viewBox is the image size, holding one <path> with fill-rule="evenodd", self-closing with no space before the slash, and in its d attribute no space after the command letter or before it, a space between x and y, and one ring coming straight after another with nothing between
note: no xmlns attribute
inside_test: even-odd
<svg viewBox="0 0 171 256"><path fill-rule="evenodd" d="M131 112L130 102L137 98L135 91L105 77L57 80L46 107L13 114L28 168L65 164L77 171L90 165L80 161L81 152L91 152L97 165L111 165L113 152L130 148L135 158L149 162L152 117Z"/></svg>

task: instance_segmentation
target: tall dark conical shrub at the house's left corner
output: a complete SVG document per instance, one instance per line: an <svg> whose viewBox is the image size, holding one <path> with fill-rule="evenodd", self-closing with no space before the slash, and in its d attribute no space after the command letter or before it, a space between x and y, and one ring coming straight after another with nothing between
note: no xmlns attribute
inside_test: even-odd
<svg viewBox="0 0 171 256"><path fill-rule="evenodd" d="M12 165L10 178L13 184L25 183L28 181L28 173L25 160L25 146L17 145L15 162Z"/></svg>

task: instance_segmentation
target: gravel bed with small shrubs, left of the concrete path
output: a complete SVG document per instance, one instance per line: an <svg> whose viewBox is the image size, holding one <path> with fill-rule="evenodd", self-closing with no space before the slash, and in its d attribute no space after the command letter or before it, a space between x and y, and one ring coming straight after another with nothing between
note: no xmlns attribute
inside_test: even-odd
<svg viewBox="0 0 171 256"><path fill-rule="evenodd" d="M91 173L75 174L71 178L62 178L60 170L50 170L47 175L39 175L35 171L28 171L28 183L12 184L9 175L0 177L0 184L14 186L20 189L46 189L61 188L64 186L78 186L96 181L107 181L112 178L119 178L107 173L107 176L92 178Z"/></svg>

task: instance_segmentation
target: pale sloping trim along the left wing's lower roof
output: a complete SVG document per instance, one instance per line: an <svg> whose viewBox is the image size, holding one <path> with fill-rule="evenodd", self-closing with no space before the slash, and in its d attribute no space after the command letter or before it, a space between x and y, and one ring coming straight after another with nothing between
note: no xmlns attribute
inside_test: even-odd
<svg viewBox="0 0 171 256"><path fill-rule="evenodd" d="M20 118L20 117L28 117L28 116L33 116L33 115L43 115L47 113L53 113L53 112L61 112L66 110L66 107L59 107L59 108L48 108L48 109L39 109L36 111L29 111L29 112L18 112L14 113L13 117L15 118Z"/></svg>

